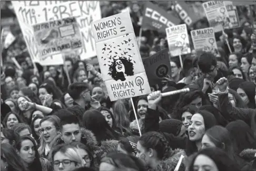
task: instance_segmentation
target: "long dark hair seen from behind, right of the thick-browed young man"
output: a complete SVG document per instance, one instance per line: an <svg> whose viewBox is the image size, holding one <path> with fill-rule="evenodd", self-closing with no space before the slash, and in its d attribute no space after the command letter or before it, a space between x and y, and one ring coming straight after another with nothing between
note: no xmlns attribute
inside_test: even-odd
<svg viewBox="0 0 256 171"><path fill-rule="evenodd" d="M99 143L106 140L119 140L122 137L107 124L104 116L97 110L87 110L83 115L82 125L94 133Z"/></svg>

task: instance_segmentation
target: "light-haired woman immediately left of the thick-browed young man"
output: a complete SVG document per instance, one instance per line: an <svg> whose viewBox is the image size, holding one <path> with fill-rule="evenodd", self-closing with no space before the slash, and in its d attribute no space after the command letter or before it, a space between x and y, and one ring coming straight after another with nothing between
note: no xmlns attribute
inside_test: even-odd
<svg viewBox="0 0 256 171"><path fill-rule="evenodd" d="M48 157L52 149L54 138L60 134L60 118L55 115L45 116L40 121L40 147L38 153L44 158Z"/></svg>

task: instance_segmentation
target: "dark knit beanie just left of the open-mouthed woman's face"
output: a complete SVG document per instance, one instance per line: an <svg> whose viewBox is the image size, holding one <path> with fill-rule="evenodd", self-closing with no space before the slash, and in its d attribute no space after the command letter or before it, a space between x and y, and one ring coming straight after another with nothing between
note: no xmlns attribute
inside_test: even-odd
<svg viewBox="0 0 256 171"><path fill-rule="evenodd" d="M179 135L181 132L182 122L180 120L168 119L163 120L159 123L159 129L161 132L173 134L175 136Z"/></svg>

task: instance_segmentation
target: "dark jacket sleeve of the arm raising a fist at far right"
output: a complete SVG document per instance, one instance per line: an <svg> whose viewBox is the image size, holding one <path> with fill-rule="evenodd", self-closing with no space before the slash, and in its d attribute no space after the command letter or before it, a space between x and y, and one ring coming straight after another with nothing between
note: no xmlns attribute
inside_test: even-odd
<svg viewBox="0 0 256 171"><path fill-rule="evenodd" d="M253 130L256 137L256 110L234 108L229 101L228 94L219 94L220 111L223 117L229 121L243 120Z"/></svg>

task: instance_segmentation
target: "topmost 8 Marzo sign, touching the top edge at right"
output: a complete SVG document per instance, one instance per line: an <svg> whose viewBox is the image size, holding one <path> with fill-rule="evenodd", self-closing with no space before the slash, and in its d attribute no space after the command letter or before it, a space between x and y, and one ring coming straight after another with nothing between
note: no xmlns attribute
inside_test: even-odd
<svg viewBox="0 0 256 171"><path fill-rule="evenodd" d="M232 28L224 1L208 1L203 3L203 8L209 25L215 32Z"/></svg>

